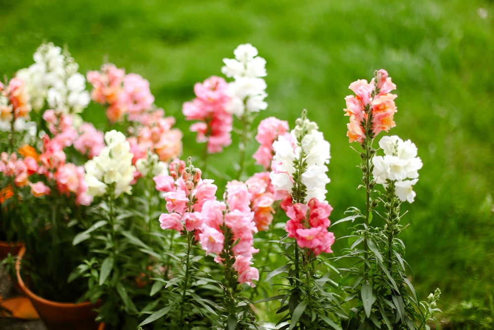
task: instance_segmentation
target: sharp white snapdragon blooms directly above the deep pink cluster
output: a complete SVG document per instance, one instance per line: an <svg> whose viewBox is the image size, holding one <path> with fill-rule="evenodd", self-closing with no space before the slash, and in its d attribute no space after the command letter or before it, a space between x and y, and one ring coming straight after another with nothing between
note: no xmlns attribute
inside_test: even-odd
<svg viewBox="0 0 494 330"><path fill-rule="evenodd" d="M305 117L305 111L302 114ZM297 184L305 186L304 202L316 197L320 201L326 199L326 184L329 178L326 174L329 163L329 142L319 132L317 125L307 119L298 119L297 126L290 132L294 141L300 141L293 145L283 136L273 143L275 156L273 157L274 170L269 177L276 190L292 191ZM303 157L303 159L300 159ZM304 164L298 168L297 164ZM295 182L293 176L299 171L299 182Z"/></svg>

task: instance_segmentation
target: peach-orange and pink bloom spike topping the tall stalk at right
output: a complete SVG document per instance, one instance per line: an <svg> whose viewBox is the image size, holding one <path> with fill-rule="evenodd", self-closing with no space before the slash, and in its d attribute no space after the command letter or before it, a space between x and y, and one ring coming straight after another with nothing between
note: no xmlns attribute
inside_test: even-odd
<svg viewBox="0 0 494 330"><path fill-rule="evenodd" d="M355 96L345 97L345 116L350 117L347 124L350 142L362 143L366 136L373 138L395 126L396 95L389 92L395 90L396 85L385 70L377 71L371 83L365 79L357 80L350 84L349 89L355 93Z"/></svg>

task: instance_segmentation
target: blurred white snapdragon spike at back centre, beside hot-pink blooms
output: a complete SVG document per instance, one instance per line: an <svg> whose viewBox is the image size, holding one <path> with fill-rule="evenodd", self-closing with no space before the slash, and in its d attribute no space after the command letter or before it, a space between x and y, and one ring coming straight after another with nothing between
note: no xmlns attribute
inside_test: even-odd
<svg viewBox="0 0 494 330"><path fill-rule="evenodd" d="M227 110L237 117L244 112L265 110L268 104L264 101L266 82L266 60L257 56L257 48L250 44L239 45L234 50L235 58L223 58L225 66L221 72L234 81L228 84L228 95L231 101Z"/></svg>

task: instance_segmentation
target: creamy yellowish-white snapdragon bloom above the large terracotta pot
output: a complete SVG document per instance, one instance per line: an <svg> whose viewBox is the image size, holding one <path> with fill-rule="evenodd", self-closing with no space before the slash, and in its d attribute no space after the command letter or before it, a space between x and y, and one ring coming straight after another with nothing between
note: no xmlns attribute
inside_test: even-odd
<svg viewBox="0 0 494 330"><path fill-rule="evenodd" d="M106 146L98 156L84 164L87 193L93 197L107 193L108 185L115 185L115 195L130 194L135 167L130 144L123 133L112 130L105 134Z"/></svg>

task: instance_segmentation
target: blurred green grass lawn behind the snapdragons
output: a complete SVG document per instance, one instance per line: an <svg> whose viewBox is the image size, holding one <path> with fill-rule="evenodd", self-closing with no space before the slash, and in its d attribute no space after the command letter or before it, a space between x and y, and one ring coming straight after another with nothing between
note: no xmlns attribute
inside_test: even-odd
<svg viewBox="0 0 494 330"><path fill-rule="evenodd" d="M348 85L386 69L399 96L390 134L411 139L424 164L402 233L414 285L422 298L441 288L452 329L492 329L494 2L385 2L0 0L0 74L29 66L50 41L67 45L82 73L106 60L138 73L176 117L186 157L203 145L187 133L182 103L196 82L221 76L222 58L251 43L268 71L269 107L257 121L277 116L293 127L306 108L331 143L335 221L365 200L346 138ZM103 110L91 105L85 116L102 122ZM212 156L216 169L234 152Z"/></svg>

